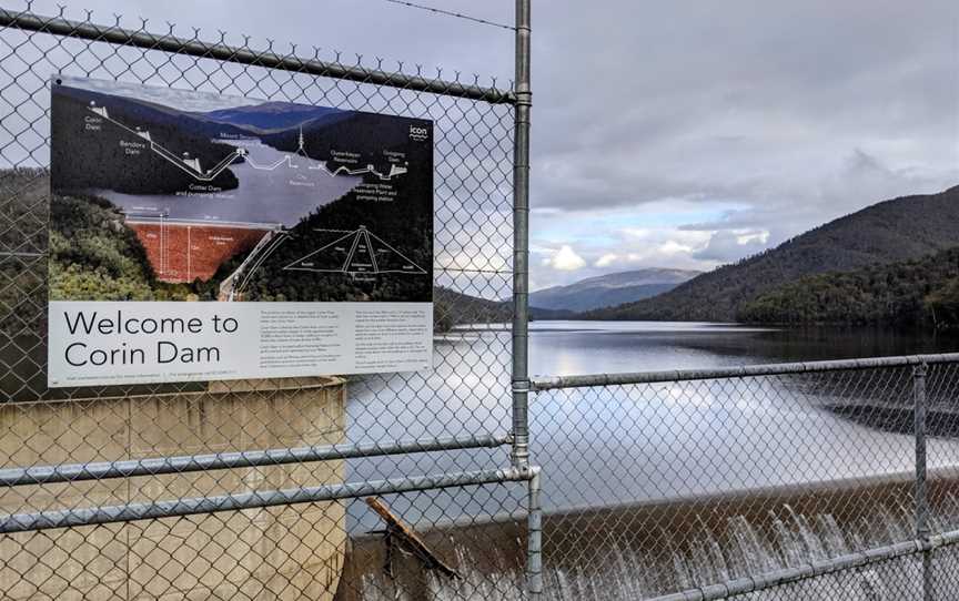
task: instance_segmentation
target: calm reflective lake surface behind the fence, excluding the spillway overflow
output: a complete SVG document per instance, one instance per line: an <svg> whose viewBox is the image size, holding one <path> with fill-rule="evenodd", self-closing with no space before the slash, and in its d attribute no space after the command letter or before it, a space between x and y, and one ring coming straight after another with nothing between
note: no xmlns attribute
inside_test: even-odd
<svg viewBox="0 0 959 601"><path fill-rule="evenodd" d="M723 324L537 322L531 374L574 375L905 355L959 349L949 337L881 329L778 330ZM509 334L463 330L437 340L431 374L353 383L350 439L385 441L508 430ZM531 397L533 462L548 511L862 478L912 469L911 436L855 424L824 406L908 399L901 373L847 373L551 391ZM880 374L881 375L881 374ZM821 378L820 378L821 379ZM959 442L932 439L930 467L959 460ZM507 465L505 450L351 461L350 480ZM509 487L504 487L508 489ZM517 502L501 491L397 499L433 521L492 515ZM362 521L365 512L354 512Z"/></svg>

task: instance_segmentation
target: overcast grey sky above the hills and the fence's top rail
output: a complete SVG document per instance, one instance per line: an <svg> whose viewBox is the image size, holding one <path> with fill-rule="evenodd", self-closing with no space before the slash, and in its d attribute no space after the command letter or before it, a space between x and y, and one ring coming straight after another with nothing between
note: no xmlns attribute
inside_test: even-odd
<svg viewBox="0 0 959 601"><path fill-rule="evenodd" d="M511 0L423 3L513 18ZM384 0L65 4L101 22L170 19L206 38L222 29L501 81L513 70L509 31ZM534 288L708 269L959 184L955 0L534 0L533 17Z"/></svg>

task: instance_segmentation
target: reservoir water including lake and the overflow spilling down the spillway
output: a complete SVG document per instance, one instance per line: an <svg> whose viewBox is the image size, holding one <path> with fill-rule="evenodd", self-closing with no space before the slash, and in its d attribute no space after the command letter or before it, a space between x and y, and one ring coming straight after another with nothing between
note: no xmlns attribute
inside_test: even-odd
<svg viewBox="0 0 959 601"><path fill-rule="evenodd" d="M506 329L464 328L437 340L430 374L354 381L350 438L506 432L508 348ZM957 349L955 337L913 333L686 323L537 322L529 343L531 374L538 375ZM940 407L955 405L959 394L955 368L951 386L942 385L943 375L933 370L930 377L930 401ZM639 599L910 539L912 436L836 410L902 407L910 391L908 371L900 369L533 395L532 460L544 473L546 599ZM959 439L932 436L928 452L941 485L933 495L933 530L959 528L959 496L949 488L959 475ZM347 479L505 465L505 449L423 454L351 461ZM453 532L445 527L456 518L508 523L517 516L522 524L525 501L518 485L385 499L425 532ZM369 567L363 598L418 599L382 578L378 560L370 559L378 557L375 551L364 554L382 546L362 537L378 527L375 518L363 503L349 510L351 531L365 540L353 558L366 558ZM523 533L522 526L502 528L431 539L444 557L455 558L464 581L431 575L426 598L512 598L503 591L522 583L525 557L516 541ZM959 561L943 553L940 564ZM917 561L829 577L825 589L820 579L757 598L817 599L841 589L844 599L921 599Z"/></svg>

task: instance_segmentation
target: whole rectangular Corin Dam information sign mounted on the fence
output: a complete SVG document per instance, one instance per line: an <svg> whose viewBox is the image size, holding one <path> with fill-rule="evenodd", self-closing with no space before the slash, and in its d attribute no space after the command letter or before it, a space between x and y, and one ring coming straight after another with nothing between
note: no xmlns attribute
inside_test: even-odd
<svg viewBox="0 0 959 601"><path fill-rule="evenodd" d="M58 77L51 153L51 387L431 366L431 121Z"/></svg>

